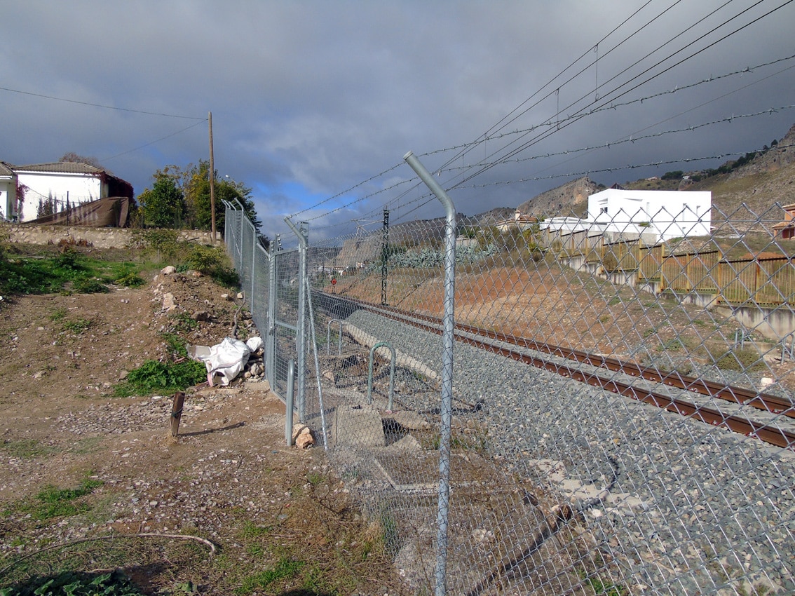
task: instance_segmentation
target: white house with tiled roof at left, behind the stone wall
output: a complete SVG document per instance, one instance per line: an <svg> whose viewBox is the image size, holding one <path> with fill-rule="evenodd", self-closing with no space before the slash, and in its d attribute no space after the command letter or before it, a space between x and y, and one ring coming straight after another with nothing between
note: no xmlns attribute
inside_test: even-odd
<svg viewBox="0 0 795 596"><path fill-rule="evenodd" d="M67 207L107 196L133 199L133 187L129 182L90 164L63 161L15 165L10 169L18 187L14 184L13 199L6 198L6 205L14 203L14 208L6 208L6 219L14 219L14 216L18 216L20 222L36 219L39 206L49 202L52 202L52 211L64 211ZM23 196L16 196L17 188L22 189Z"/></svg>

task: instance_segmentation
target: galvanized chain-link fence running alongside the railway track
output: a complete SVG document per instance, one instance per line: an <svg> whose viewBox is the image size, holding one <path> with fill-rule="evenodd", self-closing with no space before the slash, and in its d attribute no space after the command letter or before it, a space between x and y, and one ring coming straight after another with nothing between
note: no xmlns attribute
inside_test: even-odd
<svg viewBox="0 0 795 596"><path fill-rule="evenodd" d="M266 254L230 206L226 239L273 389L295 362L410 593L793 594L785 215L459 219L452 350L444 214Z"/></svg>

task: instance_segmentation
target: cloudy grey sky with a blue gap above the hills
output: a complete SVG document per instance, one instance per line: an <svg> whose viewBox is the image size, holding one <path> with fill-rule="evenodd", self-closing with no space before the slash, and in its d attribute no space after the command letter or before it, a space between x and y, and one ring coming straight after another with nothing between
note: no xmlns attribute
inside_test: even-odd
<svg viewBox="0 0 795 596"><path fill-rule="evenodd" d="M792 0L6 2L0 160L96 157L138 195L207 158L211 112L271 236L443 215L409 150L475 215L770 145L793 30Z"/></svg>

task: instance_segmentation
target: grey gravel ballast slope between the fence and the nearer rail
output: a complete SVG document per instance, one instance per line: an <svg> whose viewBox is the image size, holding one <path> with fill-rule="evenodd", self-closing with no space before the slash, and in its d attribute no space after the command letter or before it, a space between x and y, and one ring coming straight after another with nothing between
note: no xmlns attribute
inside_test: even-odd
<svg viewBox="0 0 795 596"><path fill-rule="evenodd" d="M438 335L362 310L347 322L440 370ZM791 452L462 343L453 385L461 401L483 403L468 416L507 472L569 497L567 482L601 495L584 501L583 519L619 568L611 582L633 594L795 593Z"/></svg>

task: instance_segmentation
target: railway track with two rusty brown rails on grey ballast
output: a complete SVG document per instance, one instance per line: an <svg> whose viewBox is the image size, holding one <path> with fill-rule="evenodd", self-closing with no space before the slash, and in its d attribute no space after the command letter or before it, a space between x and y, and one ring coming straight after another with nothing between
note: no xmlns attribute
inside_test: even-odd
<svg viewBox="0 0 795 596"><path fill-rule="evenodd" d="M377 315L386 316L419 327L425 331L432 331L441 335L442 319L430 315L419 315L414 312L403 311L399 308L375 305L357 300L354 298L342 297L339 295L317 292L316 294L326 301L342 302L350 304L350 308L362 308ZM328 302L327 302L328 304ZM337 308L339 310L339 308ZM344 309L343 309L344 310ZM742 387L732 387L706 381L696 377L688 377L676 371L665 372L656 369L644 368L631 362L622 362L615 358L607 358L602 355L588 354L580 350L572 350L561 346L554 346L546 343L538 343L533 339L514 337L498 331L490 331L480 327L473 327L464 323L456 323L456 341L467 343L481 350L487 350L494 354L499 354L505 358L512 358L518 362L535 366L564 377L571 377L576 381L588 383L588 385L598 387L617 393L622 397L628 397L636 401L663 408L669 412L677 412L681 416L688 416L700 420L704 424L712 424L722 428L728 428L732 432L760 439L765 443L770 443L776 447L795 451L795 432L786 428L779 428L759 420L751 420L749 416L738 416L720 412L709 405L697 404L695 401L673 397L659 390L639 388L633 382L617 380L617 377L610 378L600 375L598 370L609 370L612 373L621 373L629 377L642 378L650 384L667 385L673 389L680 389L683 392L694 393L697 396L707 399L716 399L734 404L746 405L756 408L764 415L785 416L795 419L795 405L788 400L770 395L767 393L756 393L750 389ZM546 357L543 355L546 354ZM581 367L568 366L557 362L572 361L586 364L595 371L589 372Z"/></svg>

